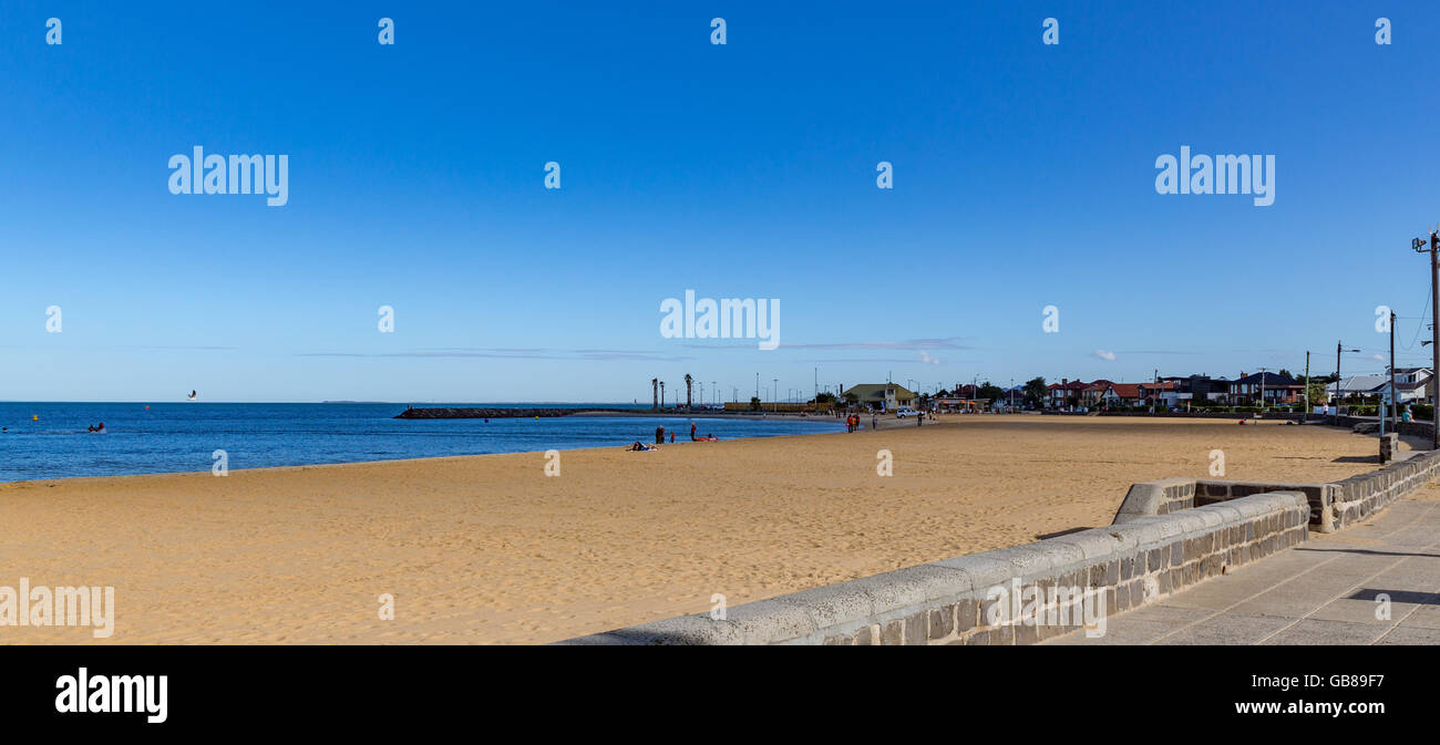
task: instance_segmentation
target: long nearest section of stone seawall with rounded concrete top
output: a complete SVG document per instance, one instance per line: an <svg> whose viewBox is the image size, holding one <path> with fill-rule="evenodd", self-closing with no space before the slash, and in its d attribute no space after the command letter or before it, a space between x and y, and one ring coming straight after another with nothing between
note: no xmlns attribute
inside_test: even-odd
<svg viewBox="0 0 1440 745"><path fill-rule="evenodd" d="M1060 618L1080 600L1050 590L1079 588L1115 614L1293 547L1308 518L1299 492L1253 495L560 644L1030 644L1077 626L1024 623L996 588L1044 591Z"/></svg>

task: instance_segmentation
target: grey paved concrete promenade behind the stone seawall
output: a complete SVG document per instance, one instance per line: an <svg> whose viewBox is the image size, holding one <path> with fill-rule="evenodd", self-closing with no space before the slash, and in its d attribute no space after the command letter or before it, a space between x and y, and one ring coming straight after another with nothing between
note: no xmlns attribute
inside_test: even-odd
<svg viewBox="0 0 1440 745"><path fill-rule="evenodd" d="M1388 618L1377 595L1390 597ZM1240 567L1159 604L1112 616L1106 634L1045 644L1440 644L1440 483L1374 518Z"/></svg>

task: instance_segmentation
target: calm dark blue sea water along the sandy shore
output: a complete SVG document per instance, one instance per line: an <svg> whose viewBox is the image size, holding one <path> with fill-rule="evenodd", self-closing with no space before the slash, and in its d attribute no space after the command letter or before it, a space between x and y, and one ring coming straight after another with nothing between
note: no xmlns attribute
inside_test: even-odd
<svg viewBox="0 0 1440 745"><path fill-rule="evenodd" d="M636 408L616 404L422 404L494 408ZM232 469L624 447L654 442L655 427L690 433L690 417L392 419L405 404L115 404L0 403L0 482L210 470L225 450ZM39 420L32 420L39 417ZM105 434L89 434L105 423ZM757 421L694 417L721 440L838 431L834 420Z"/></svg>

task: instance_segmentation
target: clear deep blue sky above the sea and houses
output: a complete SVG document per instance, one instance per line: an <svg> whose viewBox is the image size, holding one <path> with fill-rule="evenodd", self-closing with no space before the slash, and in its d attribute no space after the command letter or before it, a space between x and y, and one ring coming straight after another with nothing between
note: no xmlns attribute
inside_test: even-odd
<svg viewBox="0 0 1440 745"><path fill-rule="evenodd" d="M0 398L1359 372L1377 305L1428 351L1434 3L521 6L0 6ZM194 145L289 203L171 194ZM1158 194L1181 145L1273 154L1274 204ZM661 338L685 289L780 348Z"/></svg>

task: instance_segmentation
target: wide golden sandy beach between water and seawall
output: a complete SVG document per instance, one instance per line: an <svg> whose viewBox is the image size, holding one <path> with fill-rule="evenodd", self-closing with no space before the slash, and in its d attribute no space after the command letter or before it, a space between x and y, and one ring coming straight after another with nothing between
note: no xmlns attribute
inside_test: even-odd
<svg viewBox="0 0 1440 745"><path fill-rule="evenodd" d="M19 482L0 585L114 585L105 643L546 643L1107 525L1130 483L1207 476L1214 449L1230 479L1378 467L1374 437L1319 426L955 416L567 450L559 476L518 453Z"/></svg>

